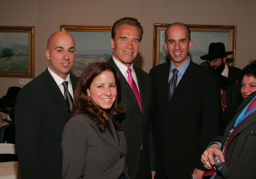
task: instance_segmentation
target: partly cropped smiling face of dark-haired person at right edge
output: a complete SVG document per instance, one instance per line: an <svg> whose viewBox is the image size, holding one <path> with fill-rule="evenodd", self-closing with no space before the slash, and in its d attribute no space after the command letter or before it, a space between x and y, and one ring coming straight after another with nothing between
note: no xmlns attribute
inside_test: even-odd
<svg viewBox="0 0 256 179"><path fill-rule="evenodd" d="M256 91L256 78L254 76L244 75L241 82L241 93L243 98L247 98L248 95L251 95L252 92Z"/></svg>

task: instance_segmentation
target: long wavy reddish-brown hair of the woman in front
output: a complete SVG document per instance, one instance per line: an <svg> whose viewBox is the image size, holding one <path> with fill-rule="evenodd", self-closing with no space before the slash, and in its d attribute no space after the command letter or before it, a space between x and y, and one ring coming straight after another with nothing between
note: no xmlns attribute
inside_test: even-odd
<svg viewBox="0 0 256 179"><path fill-rule="evenodd" d="M81 74L78 80L77 87L74 91L74 107L71 110L71 115L77 113L86 113L97 122L99 131L102 133L106 131L106 127L109 125L109 121L103 116L103 110L97 105L94 105L91 98L88 97L87 89L90 88L92 81L95 77L101 74L103 71L111 71L114 74L116 80L116 101L113 103L112 108L107 110L113 119L114 126L116 129L122 129L122 117L123 113L126 112L125 107L120 107L117 103L118 98L121 95L121 82L119 74L110 64L105 62L98 62L89 65L85 68L85 71Z"/></svg>

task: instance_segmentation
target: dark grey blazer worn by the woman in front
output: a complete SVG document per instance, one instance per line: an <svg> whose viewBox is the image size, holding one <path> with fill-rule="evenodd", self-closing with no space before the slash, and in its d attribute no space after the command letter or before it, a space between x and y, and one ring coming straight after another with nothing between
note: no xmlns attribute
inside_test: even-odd
<svg viewBox="0 0 256 179"><path fill-rule="evenodd" d="M114 128L100 133L97 123L86 114L71 117L62 134L62 178L117 179L126 168L126 139Z"/></svg>

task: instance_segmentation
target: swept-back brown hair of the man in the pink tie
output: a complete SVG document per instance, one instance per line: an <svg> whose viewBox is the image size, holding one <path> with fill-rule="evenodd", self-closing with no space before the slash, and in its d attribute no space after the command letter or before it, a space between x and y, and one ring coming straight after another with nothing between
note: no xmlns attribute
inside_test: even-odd
<svg viewBox="0 0 256 179"><path fill-rule="evenodd" d="M137 29L139 29L139 31L140 31L140 41L142 40L143 28L142 28L142 26L140 26L140 22L137 19L132 18L132 17L124 17L122 19L119 19L118 21L116 21L113 24L112 30L111 30L111 38L113 40L115 40L117 28L121 25L128 25L128 26L137 27Z"/></svg>

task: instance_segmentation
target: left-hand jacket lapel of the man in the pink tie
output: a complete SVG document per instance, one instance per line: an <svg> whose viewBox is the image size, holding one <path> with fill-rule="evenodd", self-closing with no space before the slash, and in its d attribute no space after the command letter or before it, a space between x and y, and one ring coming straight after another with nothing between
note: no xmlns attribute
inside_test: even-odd
<svg viewBox="0 0 256 179"><path fill-rule="evenodd" d="M121 73L119 68L116 66L116 63L114 62L114 60L112 60L112 57L109 59L108 63L111 64L112 67L114 67L119 74L120 81L121 81L122 94L125 95L127 100L130 100L130 102L133 103L133 105L135 105L135 107L140 111L140 106L137 102L137 98L133 94L133 90L130 88L130 85L126 81L126 78L123 77L123 74Z"/></svg>

